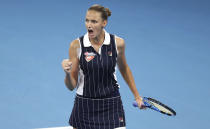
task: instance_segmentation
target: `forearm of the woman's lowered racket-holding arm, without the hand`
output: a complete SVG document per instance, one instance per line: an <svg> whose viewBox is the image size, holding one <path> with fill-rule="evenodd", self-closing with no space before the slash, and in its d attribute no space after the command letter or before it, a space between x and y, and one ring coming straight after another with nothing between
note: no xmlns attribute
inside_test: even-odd
<svg viewBox="0 0 210 129"><path fill-rule="evenodd" d="M122 70L121 74L122 74L124 80L126 81L126 83L128 84L128 86L129 86L131 92L133 93L134 97L139 98L140 95L139 95L138 90L136 88L134 77L132 75L132 72L131 72L129 66L126 66L125 69Z"/></svg>

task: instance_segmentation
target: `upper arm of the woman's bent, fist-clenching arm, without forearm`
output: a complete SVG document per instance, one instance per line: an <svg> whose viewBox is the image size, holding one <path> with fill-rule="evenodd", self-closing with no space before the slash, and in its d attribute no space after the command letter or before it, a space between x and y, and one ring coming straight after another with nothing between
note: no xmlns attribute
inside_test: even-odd
<svg viewBox="0 0 210 129"><path fill-rule="evenodd" d="M78 50L80 49L79 40L71 42L69 47L69 60L72 62L71 77L77 81L79 72Z"/></svg>

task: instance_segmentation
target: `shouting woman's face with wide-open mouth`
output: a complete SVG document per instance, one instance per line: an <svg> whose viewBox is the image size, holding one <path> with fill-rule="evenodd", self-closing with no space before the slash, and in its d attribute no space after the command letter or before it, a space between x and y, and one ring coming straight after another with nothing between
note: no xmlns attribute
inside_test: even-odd
<svg viewBox="0 0 210 129"><path fill-rule="evenodd" d="M85 26L87 28L89 38L93 39L98 37L106 24L107 20L103 20L101 18L100 12L94 10L87 11Z"/></svg>

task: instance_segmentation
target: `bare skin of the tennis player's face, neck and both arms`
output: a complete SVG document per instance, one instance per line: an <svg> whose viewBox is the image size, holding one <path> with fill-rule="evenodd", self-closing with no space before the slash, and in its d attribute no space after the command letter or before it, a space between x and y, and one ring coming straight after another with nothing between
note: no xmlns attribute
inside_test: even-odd
<svg viewBox="0 0 210 129"><path fill-rule="evenodd" d="M87 30L93 30L92 33L88 33L89 40L92 47L98 52L99 48L104 42L105 32L103 28L107 25L107 20L102 19L101 13L89 10L86 14L85 26ZM117 65L122 74L124 80L128 84L131 92L133 93L139 108L145 108L143 106L142 97L139 95L135 85L135 81L132 72L126 62L125 58L125 42L123 39L116 37L116 44L118 49ZM77 56L77 50L80 48L78 40L74 40L69 48L69 59L62 61L62 68L66 73L65 84L68 89L73 90L77 85L78 72L79 72L79 59ZM74 128L75 129L75 128Z"/></svg>

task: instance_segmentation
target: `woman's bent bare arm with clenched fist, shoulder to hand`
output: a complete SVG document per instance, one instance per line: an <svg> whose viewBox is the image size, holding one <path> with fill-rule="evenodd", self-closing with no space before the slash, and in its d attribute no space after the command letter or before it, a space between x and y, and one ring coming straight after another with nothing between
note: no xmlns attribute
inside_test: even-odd
<svg viewBox="0 0 210 129"><path fill-rule="evenodd" d="M74 40L70 44L69 59L62 61L62 68L66 76L64 79L65 85L69 90L73 90L77 85L78 72L79 72L79 59L77 51L80 49L79 40Z"/></svg>

